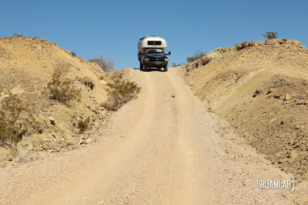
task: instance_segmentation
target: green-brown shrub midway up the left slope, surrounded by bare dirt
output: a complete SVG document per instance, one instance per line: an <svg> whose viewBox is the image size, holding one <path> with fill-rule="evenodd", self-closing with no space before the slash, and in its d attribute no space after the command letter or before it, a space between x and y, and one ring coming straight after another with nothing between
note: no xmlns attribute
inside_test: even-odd
<svg viewBox="0 0 308 205"><path fill-rule="evenodd" d="M63 76L63 71L59 69L53 73L51 81L47 84L51 98L64 104L72 100L80 100L80 90L74 86L73 80Z"/></svg>

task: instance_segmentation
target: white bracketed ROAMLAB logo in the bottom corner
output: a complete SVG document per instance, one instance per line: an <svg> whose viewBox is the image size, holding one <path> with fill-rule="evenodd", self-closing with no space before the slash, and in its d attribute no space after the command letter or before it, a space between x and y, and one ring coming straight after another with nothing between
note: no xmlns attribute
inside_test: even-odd
<svg viewBox="0 0 308 205"><path fill-rule="evenodd" d="M290 176L290 179L287 180L269 180L262 179L260 176L257 178L257 191L262 192L262 189L290 189L290 192L293 192L295 190L295 179Z"/></svg>

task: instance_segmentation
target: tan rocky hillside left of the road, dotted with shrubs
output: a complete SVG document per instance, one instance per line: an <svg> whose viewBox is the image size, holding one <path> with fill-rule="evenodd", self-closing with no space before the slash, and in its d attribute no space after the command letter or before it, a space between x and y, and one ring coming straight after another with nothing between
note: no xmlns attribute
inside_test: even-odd
<svg viewBox="0 0 308 205"><path fill-rule="evenodd" d="M47 84L55 70L62 70L63 77L73 80L76 89L80 89L80 101L68 106L50 99ZM19 144L37 152L34 158L78 148L80 119L91 116L93 128L106 121L109 113L99 109L99 104L107 100L106 82L100 80L102 75L96 63L74 57L50 41L0 38L0 88L16 94L33 114ZM49 117L55 121L51 122ZM14 157L12 151L0 148L1 165L15 164Z"/></svg>

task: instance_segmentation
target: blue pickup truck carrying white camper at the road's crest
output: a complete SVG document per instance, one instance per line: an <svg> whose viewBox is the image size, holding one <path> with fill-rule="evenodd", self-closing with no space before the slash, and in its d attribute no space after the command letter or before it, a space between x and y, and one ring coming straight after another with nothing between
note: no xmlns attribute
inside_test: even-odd
<svg viewBox="0 0 308 205"><path fill-rule="evenodd" d="M171 52L165 54L167 42L165 39L158 36L148 36L140 38L138 41L138 61L140 69L147 71L148 68L164 68L168 71L168 57Z"/></svg>

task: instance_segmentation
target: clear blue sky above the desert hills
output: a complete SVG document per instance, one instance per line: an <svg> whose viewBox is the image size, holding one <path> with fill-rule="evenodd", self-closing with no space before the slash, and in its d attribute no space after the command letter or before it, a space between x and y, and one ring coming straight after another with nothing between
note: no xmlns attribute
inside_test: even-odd
<svg viewBox="0 0 308 205"><path fill-rule="evenodd" d="M137 42L149 35L166 39L174 63L198 49L265 40L267 31L307 46L307 8L297 0L1 1L0 37L38 36L86 60L102 53L116 69L138 68Z"/></svg>

